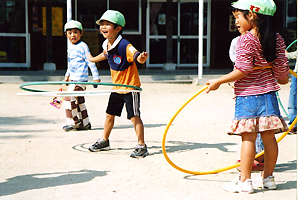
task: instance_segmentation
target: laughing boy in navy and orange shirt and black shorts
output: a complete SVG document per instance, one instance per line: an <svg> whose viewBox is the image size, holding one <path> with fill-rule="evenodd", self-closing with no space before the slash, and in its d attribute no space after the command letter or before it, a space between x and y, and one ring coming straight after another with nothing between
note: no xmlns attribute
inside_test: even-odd
<svg viewBox="0 0 298 200"><path fill-rule="evenodd" d="M103 52L94 58L90 55L89 60L98 62L108 59L113 83L140 87L141 83L135 61L141 64L145 63L148 54L147 52L138 52L127 40L122 39L122 28L125 25L124 16L118 11L107 10L96 23L100 25L100 32L106 40L102 45ZM131 90L131 88L118 86L113 89ZM138 145L130 157L138 158L149 155L144 142L144 126L140 118L140 93L138 92L111 93L102 139L93 144L89 151L110 149L109 136L114 126L115 116L121 116L124 104L127 118L132 121L138 138Z"/></svg>

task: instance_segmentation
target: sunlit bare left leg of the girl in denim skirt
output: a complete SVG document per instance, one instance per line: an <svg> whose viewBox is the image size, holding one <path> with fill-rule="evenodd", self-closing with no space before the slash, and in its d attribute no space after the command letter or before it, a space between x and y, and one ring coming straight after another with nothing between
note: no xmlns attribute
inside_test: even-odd
<svg viewBox="0 0 298 200"><path fill-rule="evenodd" d="M241 181L251 179L251 170L256 153L255 141L257 133L242 133L241 146Z"/></svg>

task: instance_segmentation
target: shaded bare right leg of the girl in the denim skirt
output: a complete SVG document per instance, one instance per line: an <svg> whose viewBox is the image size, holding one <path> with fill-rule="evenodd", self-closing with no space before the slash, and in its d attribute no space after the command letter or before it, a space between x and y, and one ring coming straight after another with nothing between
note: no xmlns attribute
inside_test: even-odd
<svg viewBox="0 0 298 200"><path fill-rule="evenodd" d="M274 130L261 133L265 147L265 163L263 178L272 176L278 156L278 146L274 135Z"/></svg>

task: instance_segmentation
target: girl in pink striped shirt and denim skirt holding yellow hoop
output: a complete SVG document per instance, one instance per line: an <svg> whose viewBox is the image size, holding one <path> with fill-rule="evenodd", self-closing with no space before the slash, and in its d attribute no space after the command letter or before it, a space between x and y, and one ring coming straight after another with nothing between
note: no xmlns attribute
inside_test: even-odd
<svg viewBox="0 0 298 200"><path fill-rule="evenodd" d="M284 40L274 30L276 5L273 0L238 0L232 7L238 29L247 33L239 39L234 70L206 83L208 93L235 81L235 118L229 132L242 137L241 172L223 188L244 193L253 193L254 187L276 189L273 171L278 146L274 134L288 127L280 115L275 92L280 90L278 83L287 84L289 80ZM264 171L251 180L257 133L261 133L265 147Z"/></svg>

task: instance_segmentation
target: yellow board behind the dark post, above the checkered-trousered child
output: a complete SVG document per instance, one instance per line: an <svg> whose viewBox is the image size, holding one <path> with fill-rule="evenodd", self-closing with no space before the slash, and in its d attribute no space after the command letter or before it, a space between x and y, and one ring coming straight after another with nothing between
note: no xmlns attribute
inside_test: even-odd
<svg viewBox="0 0 298 200"><path fill-rule="evenodd" d="M46 7L42 7L42 31L43 35L47 35L47 23L46 23ZM52 35L63 35L63 10L61 7L52 7Z"/></svg>

